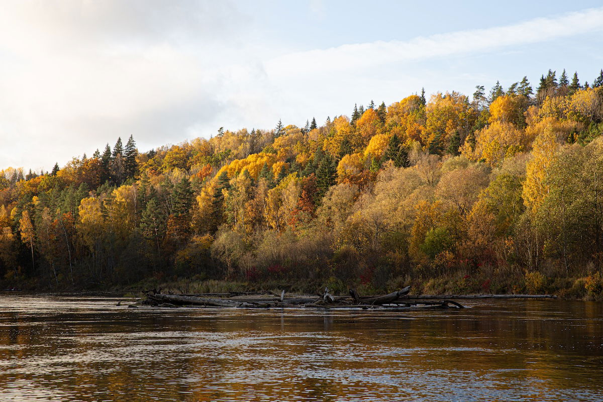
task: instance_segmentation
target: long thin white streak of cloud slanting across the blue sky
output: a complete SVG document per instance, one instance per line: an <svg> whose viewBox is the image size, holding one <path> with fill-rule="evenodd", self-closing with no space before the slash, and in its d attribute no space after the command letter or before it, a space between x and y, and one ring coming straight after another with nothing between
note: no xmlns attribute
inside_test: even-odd
<svg viewBox="0 0 603 402"><path fill-rule="evenodd" d="M544 42L603 30L603 8L553 18L537 18L505 27L458 31L405 42L371 42L296 52L267 63L274 77L368 69L432 57L493 51L505 46Z"/></svg>

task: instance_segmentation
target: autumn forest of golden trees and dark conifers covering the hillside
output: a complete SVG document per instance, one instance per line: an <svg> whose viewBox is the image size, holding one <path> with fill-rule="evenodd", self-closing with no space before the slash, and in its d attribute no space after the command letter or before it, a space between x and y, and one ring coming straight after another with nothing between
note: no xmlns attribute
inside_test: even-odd
<svg viewBox="0 0 603 402"><path fill-rule="evenodd" d="M603 297L603 70L367 103L0 170L0 287Z"/></svg>

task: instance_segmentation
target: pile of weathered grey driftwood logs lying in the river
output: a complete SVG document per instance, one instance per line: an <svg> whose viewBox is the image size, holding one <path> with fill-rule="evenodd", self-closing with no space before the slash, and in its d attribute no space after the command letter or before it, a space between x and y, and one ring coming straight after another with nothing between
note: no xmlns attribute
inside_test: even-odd
<svg viewBox="0 0 603 402"><path fill-rule="evenodd" d="M315 297L292 296L285 297L285 291L279 295L272 292L264 294L194 294L173 295L162 294L160 291L146 292L147 300L144 304L156 307L244 307L256 309L305 307L315 309L407 309L409 307L423 307L431 309L448 309L450 307L463 309L461 304L452 300L425 301L412 300L408 297L410 286L399 291L380 296L361 296L354 289L350 289L347 296L335 296L324 289L322 294ZM272 297L262 297L267 294Z"/></svg>

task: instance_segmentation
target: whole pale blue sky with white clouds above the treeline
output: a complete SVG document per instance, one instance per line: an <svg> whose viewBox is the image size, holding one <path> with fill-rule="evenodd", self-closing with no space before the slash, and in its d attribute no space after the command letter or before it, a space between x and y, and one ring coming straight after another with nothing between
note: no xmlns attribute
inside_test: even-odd
<svg viewBox="0 0 603 402"><path fill-rule="evenodd" d="M492 4L491 4L492 3ZM603 68L600 1L1 0L0 169Z"/></svg>

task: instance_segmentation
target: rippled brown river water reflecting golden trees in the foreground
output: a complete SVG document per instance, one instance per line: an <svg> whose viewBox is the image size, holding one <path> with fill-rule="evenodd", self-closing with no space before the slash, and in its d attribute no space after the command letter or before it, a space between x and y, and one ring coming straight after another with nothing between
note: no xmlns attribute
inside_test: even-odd
<svg viewBox="0 0 603 402"><path fill-rule="evenodd" d="M0 295L0 401L603 401L603 304L127 309Z"/></svg>

